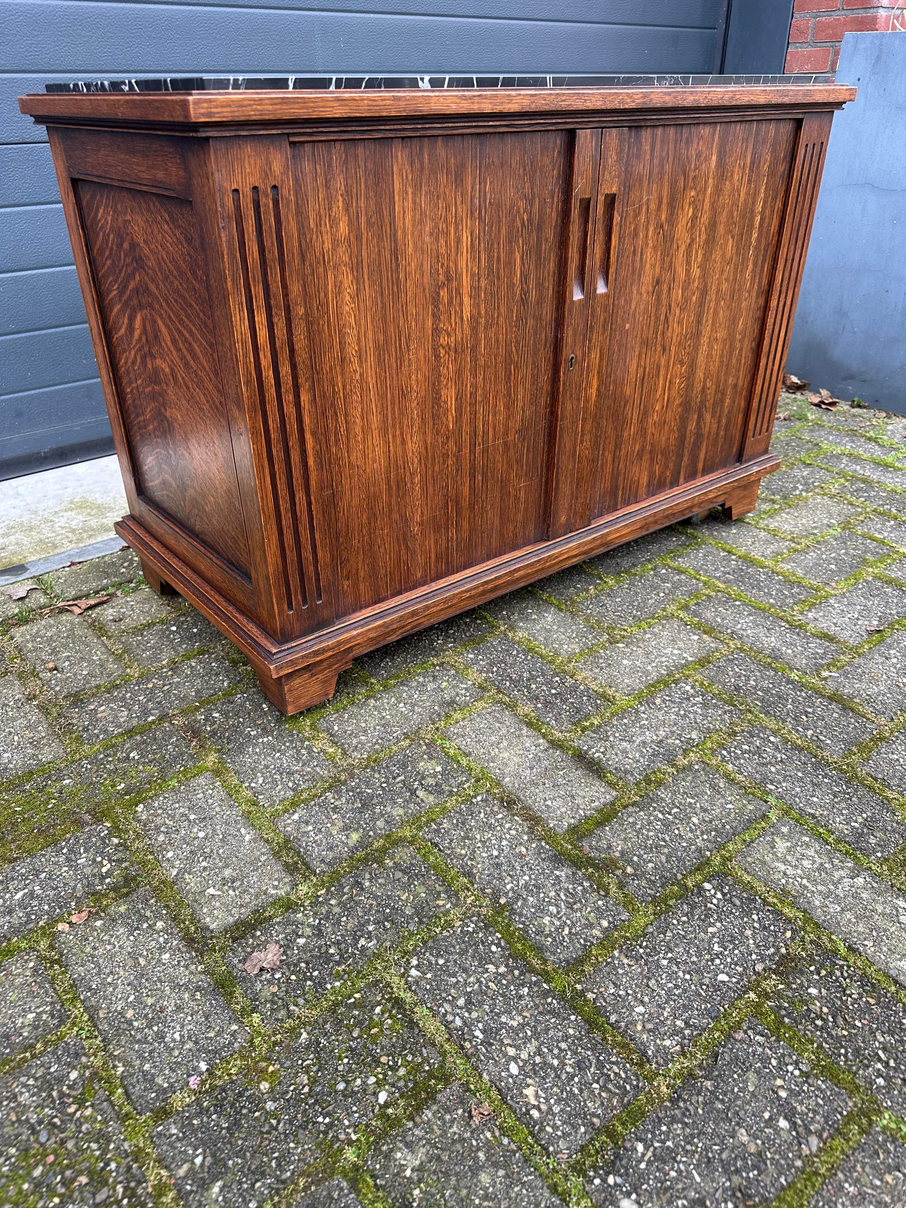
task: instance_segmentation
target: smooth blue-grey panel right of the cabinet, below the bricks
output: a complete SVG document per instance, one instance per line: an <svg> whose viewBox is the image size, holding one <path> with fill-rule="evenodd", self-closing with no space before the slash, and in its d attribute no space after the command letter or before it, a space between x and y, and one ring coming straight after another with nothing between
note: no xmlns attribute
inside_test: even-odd
<svg viewBox="0 0 906 1208"><path fill-rule="evenodd" d="M906 37L847 34L788 365L841 399L906 414Z"/></svg>

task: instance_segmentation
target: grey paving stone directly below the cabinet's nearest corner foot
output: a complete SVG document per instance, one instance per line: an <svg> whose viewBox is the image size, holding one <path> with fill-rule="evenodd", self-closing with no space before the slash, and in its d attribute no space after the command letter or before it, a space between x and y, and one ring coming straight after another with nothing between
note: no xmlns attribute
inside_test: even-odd
<svg viewBox="0 0 906 1208"><path fill-rule="evenodd" d="M237 779L266 807L336 772L257 690L209 704L190 725L210 738Z"/></svg>

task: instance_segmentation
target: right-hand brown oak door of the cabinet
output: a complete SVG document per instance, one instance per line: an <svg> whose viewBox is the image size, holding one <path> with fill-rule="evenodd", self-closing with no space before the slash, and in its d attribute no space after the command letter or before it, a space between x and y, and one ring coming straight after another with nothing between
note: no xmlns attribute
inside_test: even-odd
<svg viewBox="0 0 906 1208"><path fill-rule="evenodd" d="M738 460L796 126L603 134L574 527Z"/></svg>

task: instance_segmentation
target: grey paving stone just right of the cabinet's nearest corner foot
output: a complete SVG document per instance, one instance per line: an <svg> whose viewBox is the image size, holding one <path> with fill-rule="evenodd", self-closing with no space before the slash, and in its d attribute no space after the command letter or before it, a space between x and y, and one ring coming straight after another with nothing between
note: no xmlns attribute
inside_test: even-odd
<svg viewBox="0 0 906 1208"><path fill-rule="evenodd" d="M451 667L429 667L377 696L327 714L319 725L338 747L362 759L397 743L413 730L440 721L480 696L481 690Z"/></svg>

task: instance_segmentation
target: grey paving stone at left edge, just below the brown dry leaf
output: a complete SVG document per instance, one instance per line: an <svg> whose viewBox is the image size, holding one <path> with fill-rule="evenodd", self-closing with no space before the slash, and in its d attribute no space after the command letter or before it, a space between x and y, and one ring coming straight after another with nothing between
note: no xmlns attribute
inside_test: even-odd
<svg viewBox="0 0 906 1208"><path fill-rule="evenodd" d="M100 687L126 674L83 616L57 612L19 626L12 643L57 696ZM47 664L53 666L48 669Z"/></svg>

